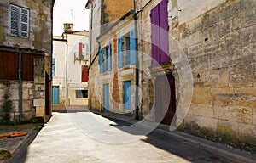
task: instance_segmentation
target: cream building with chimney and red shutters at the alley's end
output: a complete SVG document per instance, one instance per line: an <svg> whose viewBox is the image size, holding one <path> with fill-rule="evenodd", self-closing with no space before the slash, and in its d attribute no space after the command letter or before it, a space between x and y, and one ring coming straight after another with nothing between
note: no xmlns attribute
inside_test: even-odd
<svg viewBox="0 0 256 163"><path fill-rule="evenodd" d="M54 37L53 104L88 104L89 31L73 31L64 24L61 37ZM54 109L55 110L55 109Z"/></svg>

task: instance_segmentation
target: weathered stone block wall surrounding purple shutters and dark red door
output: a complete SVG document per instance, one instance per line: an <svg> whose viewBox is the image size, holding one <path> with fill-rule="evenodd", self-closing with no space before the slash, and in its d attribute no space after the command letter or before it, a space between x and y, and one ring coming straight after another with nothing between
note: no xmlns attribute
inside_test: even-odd
<svg viewBox="0 0 256 163"><path fill-rule="evenodd" d="M160 1L150 3L143 10L143 53L151 53L149 13L157 3ZM255 8L253 0L188 4L183 0L168 1L170 57L177 57L180 53L178 47L181 47L189 59L193 75L193 97L180 128L254 151ZM143 70L146 71L149 66L150 59L145 57ZM175 76L177 102L181 102L185 100L181 96L182 74L178 74L177 70L172 73ZM154 97L154 89L150 89L147 79L143 80L143 84L143 110L149 111L152 99L148 98L148 94Z"/></svg>

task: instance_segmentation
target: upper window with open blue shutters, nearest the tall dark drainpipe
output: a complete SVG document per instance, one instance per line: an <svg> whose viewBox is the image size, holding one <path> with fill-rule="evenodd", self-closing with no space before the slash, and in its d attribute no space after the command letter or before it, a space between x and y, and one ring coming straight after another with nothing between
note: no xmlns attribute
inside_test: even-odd
<svg viewBox="0 0 256 163"><path fill-rule="evenodd" d="M123 37L118 38L118 67L135 64L136 38L132 30Z"/></svg>

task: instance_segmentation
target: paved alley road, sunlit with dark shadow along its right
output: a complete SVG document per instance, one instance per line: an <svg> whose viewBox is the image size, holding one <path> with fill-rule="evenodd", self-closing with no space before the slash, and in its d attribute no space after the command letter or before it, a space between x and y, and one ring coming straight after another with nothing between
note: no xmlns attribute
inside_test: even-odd
<svg viewBox="0 0 256 163"><path fill-rule="evenodd" d="M104 125L97 126L95 121ZM115 125L129 124L91 112L54 113L16 162L231 162L158 132L133 135ZM119 143L123 138L127 143Z"/></svg>

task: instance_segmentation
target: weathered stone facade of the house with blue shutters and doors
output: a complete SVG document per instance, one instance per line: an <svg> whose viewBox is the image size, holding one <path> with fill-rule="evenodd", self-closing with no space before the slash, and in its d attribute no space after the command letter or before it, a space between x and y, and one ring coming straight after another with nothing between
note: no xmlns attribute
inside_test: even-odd
<svg viewBox="0 0 256 163"><path fill-rule="evenodd" d="M117 38L129 32L133 27L131 14L124 21L120 17L132 10L131 1L94 0L88 1L86 8L90 8L90 70L89 70L89 101L88 107L103 110L102 85L109 83L110 108L113 112L124 112L122 108L122 82L131 80L134 84L134 66L117 68ZM102 16L100 16L102 15ZM119 25L113 23L119 22ZM126 29L123 26L128 26ZM107 31L107 32L106 32ZM101 35L102 33L105 33ZM110 72L100 73L99 49L108 44L112 47L112 69ZM133 97L134 98L134 97ZM132 100L134 101L134 99Z"/></svg>

